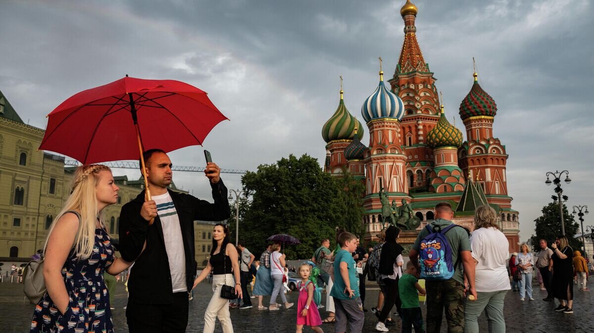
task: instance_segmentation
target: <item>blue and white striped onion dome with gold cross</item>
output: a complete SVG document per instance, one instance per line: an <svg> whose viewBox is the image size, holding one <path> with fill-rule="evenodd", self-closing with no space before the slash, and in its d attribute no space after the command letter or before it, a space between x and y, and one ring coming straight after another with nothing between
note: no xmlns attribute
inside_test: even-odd
<svg viewBox="0 0 594 333"><path fill-rule="evenodd" d="M380 72L380 84L363 103L361 114L366 123L378 118L402 119L405 107L400 97L384 85L384 72Z"/></svg>

